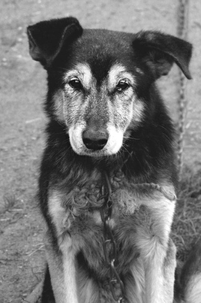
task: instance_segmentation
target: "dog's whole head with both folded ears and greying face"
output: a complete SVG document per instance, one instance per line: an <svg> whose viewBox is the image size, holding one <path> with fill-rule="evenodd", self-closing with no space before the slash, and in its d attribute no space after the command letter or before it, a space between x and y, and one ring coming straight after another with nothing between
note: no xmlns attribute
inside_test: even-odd
<svg viewBox="0 0 201 303"><path fill-rule="evenodd" d="M79 155L116 154L145 120L149 87L174 62L191 78L191 44L160 32L83 30L70 17L29 26L28 37L48 72L48 114Z"/></svg>

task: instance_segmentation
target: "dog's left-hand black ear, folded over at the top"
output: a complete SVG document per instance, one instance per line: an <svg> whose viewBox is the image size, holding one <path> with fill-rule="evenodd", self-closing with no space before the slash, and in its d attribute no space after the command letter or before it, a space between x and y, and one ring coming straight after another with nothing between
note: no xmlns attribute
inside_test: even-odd
<svg viewBox="0 0 201 303"><path fill-rule="evenodd" d="M73 17L41 21L27 27L31 57L48 67L64 43L82 35L83 29Z"/></svg>

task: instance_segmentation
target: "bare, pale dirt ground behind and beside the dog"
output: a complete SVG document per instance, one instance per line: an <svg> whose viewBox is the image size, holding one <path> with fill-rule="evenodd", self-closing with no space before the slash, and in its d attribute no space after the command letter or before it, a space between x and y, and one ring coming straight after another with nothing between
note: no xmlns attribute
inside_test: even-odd
<svg viewBox="0 0 201 303"><path fill-rule="evenodd" d="M189 2L188 40L194 51L193 80L187 86L184 163L197 171L201 167L201 2ZM27 25L72 15L88 28L156 29L176 34L177 6L175 0L1 0L0 303L24 301L41 280L45 264L44 224L34 196L44 147L46 74L29 56ZM174 67L159 86L175 121L177 85ZM197 216L201 225L200 213ZM197 235L197 230L194 233Z"/></svg>

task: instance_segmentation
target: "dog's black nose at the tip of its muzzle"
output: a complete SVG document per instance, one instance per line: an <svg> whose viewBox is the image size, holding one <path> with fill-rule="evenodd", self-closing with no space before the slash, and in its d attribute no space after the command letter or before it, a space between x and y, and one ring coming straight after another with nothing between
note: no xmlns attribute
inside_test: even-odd
<svg viewBox="0 0 201 303"><path fill-rule="evenodd" d="M83 132L82 139L88 149L99 150L107 143L108 132L104 128L89 128Z"/></svg>

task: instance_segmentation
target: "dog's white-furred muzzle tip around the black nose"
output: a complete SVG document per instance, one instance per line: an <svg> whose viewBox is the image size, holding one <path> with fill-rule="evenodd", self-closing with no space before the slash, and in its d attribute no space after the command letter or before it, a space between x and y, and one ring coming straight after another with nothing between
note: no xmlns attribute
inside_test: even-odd
<svg viewBox="0 0 201 303"><path fill-rule="evenodd" d="M123 142L123 131L114 126L91 130L79 126L69 129L69 137L76 154L91 157L111 156L118 153Z"/></svg>

